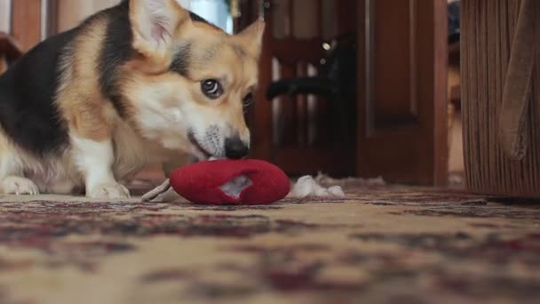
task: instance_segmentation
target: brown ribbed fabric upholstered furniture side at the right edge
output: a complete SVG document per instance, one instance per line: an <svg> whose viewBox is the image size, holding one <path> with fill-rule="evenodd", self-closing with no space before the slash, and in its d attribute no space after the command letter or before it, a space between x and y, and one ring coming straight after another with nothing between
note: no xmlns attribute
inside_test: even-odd
<svg viewBox="0 0 540 304"><path fill-rule="evenodd" d="M540 1L462 1L461 43L468 188L540 198Z"/></svg>

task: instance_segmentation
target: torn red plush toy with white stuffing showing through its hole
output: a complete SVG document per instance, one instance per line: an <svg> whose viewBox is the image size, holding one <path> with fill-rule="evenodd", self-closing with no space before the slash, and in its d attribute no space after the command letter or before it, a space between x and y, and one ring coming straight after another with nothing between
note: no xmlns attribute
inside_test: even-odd
<svg viewBox="0 0 540 304"><path fill-rule="evenodd" d="M195 204L272 204L290 191L285 172L255 159L190 164L171 172L170 180L180 196Z"/></svg>

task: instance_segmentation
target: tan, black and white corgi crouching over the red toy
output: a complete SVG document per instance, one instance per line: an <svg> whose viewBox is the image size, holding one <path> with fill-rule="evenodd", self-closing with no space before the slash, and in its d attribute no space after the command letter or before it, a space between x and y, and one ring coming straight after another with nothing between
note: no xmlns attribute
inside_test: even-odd
<svg viewBox="0 0 540 304"><path fill-rule="evenodd" d="M264 30L123 0L37 44L0 76L0 193L122 199L151 162L247 156Z"/></svg>

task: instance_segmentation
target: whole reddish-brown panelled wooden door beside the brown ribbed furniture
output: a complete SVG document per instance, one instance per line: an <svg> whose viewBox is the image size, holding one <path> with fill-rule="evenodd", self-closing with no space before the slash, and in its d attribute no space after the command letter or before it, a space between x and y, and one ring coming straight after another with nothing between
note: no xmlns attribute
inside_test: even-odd
<svg viewBox="0 0 540 304"><path fill-rule="evenodd" d="M359 0L357 172L446 184L446 0Z"/></svg>

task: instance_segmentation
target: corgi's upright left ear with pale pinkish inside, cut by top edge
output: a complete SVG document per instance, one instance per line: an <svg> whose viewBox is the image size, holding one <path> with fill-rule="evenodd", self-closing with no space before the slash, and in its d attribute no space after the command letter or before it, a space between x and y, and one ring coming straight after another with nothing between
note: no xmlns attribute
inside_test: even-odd
<svg viewBox="0 0 540 304"><path fill-rule="evenodd" d="M129 0L133 47L147 56L163 56L174 32L191 22L189 12L175 0Z"/></svg>

